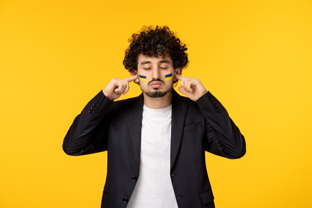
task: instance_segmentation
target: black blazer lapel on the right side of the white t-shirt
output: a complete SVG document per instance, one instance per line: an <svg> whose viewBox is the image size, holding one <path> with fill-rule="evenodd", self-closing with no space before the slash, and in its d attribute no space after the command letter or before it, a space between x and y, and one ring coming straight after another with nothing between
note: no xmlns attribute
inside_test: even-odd
<svg viewBox="0 0 312 208"><path fill-rule="evenodd" d="M174 161L176 159L183 128L184 128L184 121L187 111L187 103L185 100L182 99L182 96L180 96L175 90L171 90L172 92L172 115L171 115L171 147L170 147L170 170L172 169L172 166L174 164Z"/></svg>

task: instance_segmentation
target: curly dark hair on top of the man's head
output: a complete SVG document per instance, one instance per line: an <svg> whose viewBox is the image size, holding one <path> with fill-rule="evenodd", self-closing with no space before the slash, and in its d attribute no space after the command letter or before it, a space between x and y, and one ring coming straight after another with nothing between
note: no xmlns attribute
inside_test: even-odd
<svg viewBox="0 0 312 208"><path fill-rule="evenodd" d="M155 57L169 55L174 68L186 68L188 65L185 44L170 31L168 26L143 26L141 31L128 39L130 45L125 51L123 64L129 71L138 70L139 54Z"/></svg>

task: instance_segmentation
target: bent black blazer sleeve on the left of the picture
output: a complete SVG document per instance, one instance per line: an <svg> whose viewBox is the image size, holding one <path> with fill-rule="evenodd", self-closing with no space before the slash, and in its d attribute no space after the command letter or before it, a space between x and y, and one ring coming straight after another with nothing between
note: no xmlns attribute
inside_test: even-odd
<svg viewBox="0 0 312 208"><path fill-rule="evenodd" d="M102 90L88 102L63 140L63 150L67 155L87 155L107 150L108 117L113 103Z"/></svg>

